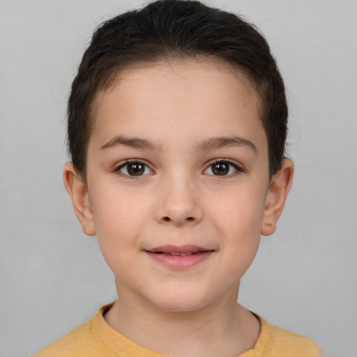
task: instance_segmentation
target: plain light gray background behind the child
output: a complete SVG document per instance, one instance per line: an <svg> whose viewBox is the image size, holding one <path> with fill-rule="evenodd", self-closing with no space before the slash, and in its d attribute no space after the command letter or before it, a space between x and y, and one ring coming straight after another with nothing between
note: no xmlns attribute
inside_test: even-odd
<svg viewBox="0 0 357 357"><path fill-rule="evenodd" d="M70 82L93 29L142 1L0 0L0 357L22 357L114 300L63 188ZM214 0L255 22L286 81L296 175L240 301L356 357L357 1Z"/></svg>

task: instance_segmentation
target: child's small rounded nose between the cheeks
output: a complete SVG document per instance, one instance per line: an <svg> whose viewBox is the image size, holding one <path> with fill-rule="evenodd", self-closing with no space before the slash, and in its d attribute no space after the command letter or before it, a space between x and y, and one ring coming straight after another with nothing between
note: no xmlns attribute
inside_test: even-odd
<svg viewBox="0 0 357 357"><path fill-rule="evenodd" d="M199 190L192 179L168 178L158 187L155 219L165 225L197 225L203 218Z"/></svg>

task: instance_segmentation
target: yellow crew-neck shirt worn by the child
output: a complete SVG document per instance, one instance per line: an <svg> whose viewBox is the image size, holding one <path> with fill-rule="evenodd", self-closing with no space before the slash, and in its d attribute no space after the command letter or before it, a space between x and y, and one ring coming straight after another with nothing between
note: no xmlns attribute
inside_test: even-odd
<svg viewBox="0 0 357 357"><path fill-rule="evenodd" d="M98 310L86 321L33 357L165 357L128 340L105 321L103 314L112 304ZM321 349L312 340L278 326L269 325L258 317L260 334L254 349L238 357L320 357Z"/></svg>

